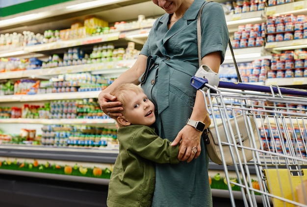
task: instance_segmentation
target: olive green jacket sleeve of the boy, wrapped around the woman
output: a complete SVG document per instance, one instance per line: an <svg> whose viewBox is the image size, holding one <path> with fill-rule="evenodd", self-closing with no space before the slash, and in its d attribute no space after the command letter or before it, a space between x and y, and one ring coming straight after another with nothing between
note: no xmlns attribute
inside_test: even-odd
<svg viewBox="0 0 307 207"><path fill-rule="evenodd" d="M134 153L157 163L179 163L179 145L171 146L168 139L157 136L152 129L143 128L135 133L131 147Z"/></svg>

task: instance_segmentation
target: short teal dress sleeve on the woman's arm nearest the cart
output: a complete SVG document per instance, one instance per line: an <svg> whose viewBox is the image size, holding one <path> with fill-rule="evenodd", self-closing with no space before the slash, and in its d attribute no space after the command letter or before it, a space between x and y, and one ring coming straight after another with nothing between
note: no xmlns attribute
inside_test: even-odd
<svg viewBox="0 0 307 207"><path fill-rule="evenodd" d="M202 11L202 58L216 51L221 51L224 61L228 46L229 32L223 7L216 2L209 2Z"/></svg>

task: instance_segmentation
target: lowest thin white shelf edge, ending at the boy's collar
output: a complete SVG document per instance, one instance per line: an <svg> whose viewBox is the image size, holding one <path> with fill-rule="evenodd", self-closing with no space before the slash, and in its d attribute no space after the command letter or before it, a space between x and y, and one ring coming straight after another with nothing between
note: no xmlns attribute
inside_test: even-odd
<svg viewBox="0 0 307 207"><path fill-rule="evenodd" d="M112 118L2 118L0 123L19 123L19 124L82 124L82 125L113 125L116 127L116 122Z"/></svg>

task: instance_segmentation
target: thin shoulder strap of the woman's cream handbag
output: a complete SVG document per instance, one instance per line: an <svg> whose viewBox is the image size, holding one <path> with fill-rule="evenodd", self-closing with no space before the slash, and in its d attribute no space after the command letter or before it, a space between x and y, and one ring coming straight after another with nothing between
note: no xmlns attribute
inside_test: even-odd
<svg viewBox="0 0 307 207"><path fill-rule="evenodd" d="M212 2L212 1L209 1L209 2ZM204 6L207 3L209 3L209 2L205 2L202 5L202 7L199 10L198 18L197 18L197 49L198 49L198 64L199 64L199 67L201 67L201 65L202 65L202 56L201 56L201 43L202 43L201 16L202 16L202 10L203 10ZM231 42L230 42L229 38L228 38L228 44L229 44L229 47L230 47L230 52L231 52L233 64L234 64L234 67L235 67L235 70L236 70L236 73L237 73L237 76L238 76L238 81L242 82L241 76L240 76L240 73L239 73L239 69L238 69L238 66L237 66L237 62L235 61L234 54L233 54L233 49L232 49Z"/></svg>

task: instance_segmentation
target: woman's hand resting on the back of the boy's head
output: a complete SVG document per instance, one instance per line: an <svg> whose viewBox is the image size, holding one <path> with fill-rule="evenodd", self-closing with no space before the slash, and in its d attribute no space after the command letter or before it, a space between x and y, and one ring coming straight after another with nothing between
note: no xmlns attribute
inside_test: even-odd
<svg viewBox="0 0 307 207"><path fill-rule="evenodd" d="M98 95L98 102L104 114L110 116L111 118L122 116L120 112L124 109L122 107L122 103L120 101L116 101L116 96L102 91Z"/></svg>

